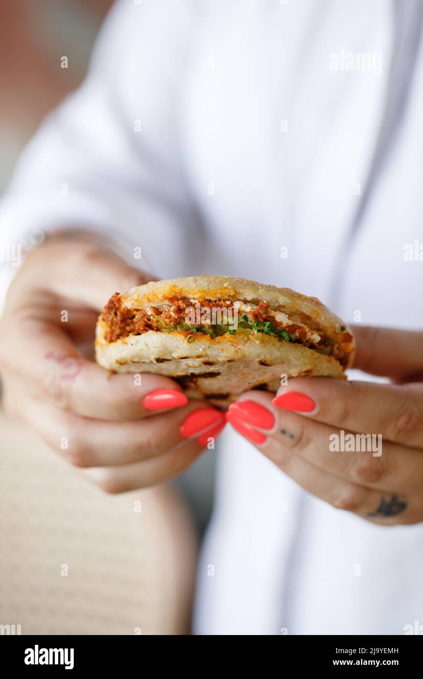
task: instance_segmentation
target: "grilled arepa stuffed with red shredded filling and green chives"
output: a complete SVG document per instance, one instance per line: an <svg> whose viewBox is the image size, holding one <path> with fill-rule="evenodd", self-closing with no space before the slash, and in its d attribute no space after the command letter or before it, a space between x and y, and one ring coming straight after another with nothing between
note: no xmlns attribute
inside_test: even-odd
<svg viewBox="0 0 423 679"><path fill-rule="evenodd" d="M187 397L227 407L275 392L282 375L344 378L354 337L315 297L229 276L193 276L115 293L96 327L96 360L119 373L160 373Z"/></svg>

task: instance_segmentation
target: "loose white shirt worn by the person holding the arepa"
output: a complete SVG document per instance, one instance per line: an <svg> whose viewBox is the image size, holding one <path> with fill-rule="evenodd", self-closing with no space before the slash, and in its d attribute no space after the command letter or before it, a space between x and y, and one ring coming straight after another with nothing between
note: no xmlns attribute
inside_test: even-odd
<svg viewBox="0 0 423 679"><path fill-rule="evenodd" d="M89 227L141 246L155 276L243 276L421 327L423 263L403 257L423 223L418 5L121 0L22 156L2 233ZM337 511L226 428L199 634L403 634L422 618L423 525Z"/></svg>

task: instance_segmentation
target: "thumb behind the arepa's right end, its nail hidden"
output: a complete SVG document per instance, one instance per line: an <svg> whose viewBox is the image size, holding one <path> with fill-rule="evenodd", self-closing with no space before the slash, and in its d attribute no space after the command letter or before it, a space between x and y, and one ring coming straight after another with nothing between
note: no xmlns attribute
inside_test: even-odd
<svg viewBox="0 0 423 679"><path fill-rule="evenodd" d="M423 375L423 332L371 326L353 327L357 351L354 368L407 382Z"/></svg>

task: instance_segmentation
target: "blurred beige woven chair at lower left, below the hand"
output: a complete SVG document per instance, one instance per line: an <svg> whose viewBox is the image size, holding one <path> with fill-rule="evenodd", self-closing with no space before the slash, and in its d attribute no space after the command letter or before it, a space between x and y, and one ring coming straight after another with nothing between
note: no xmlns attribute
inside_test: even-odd
<svg viewBox="0 0 423 679"><path fill-rule="evenodd" d="M0 625L189 633L196 547L173 492L107 495L22 422L0 413L0 432Z"/></svg>

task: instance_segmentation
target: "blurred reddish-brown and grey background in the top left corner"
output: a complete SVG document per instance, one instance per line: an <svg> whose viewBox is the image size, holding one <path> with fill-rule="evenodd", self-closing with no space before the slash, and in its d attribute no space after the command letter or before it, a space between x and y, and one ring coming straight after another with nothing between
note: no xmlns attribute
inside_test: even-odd
<svg viewBox="0 0 423 679"><path fill-rule="evenodd" d="M0 191L39 122L83 79L112 0L0 0ZM69 68L60 68L60 57Z"/></svg>

